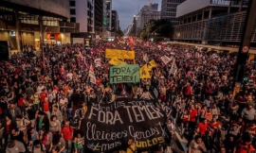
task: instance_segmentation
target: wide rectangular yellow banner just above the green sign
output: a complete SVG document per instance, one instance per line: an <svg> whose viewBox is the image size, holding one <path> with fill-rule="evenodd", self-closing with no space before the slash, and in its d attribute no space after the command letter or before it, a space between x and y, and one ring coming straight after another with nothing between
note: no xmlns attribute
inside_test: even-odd
<svg viewBox="0 0 256 153"><path fill-rule="evenodd" d="M135 59L135 51L126 51L119 49L106 49L105 53L106 59Z"/></svg>

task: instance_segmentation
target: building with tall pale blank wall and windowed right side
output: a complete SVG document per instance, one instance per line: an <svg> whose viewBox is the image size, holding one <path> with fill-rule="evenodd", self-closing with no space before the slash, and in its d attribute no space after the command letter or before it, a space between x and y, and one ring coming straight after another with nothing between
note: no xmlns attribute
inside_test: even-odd
<svg viewBox="0 0 256 153"><path fill-rule="evenodd" d="M72 33L73 43L82 42L84 39L91 40L95 33L94 22L95 0L70 0L70 22L79 23L79 32Z"/></svg>

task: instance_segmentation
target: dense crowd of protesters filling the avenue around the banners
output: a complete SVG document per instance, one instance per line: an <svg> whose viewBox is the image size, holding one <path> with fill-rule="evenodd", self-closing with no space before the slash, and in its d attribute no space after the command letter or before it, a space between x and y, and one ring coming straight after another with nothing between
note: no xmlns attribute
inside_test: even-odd
<svg viewBox="0 0 256 153"><path fill-rule="evenodd" d="M234 94L234 55L181 44L123 42L95 42L87 49L79 43L46 44L37 56L26 47L0 61L2 150L82 153L86 142L80 124L87 105L92 99L109 103L119 96L154 99L168 117L169 137L179 134L187 139L189 153L255 150L255 65L247 64L248 80ZM140 66L146 64L143 55L147 54L156 63L151 78L110 84L106 48L135 50ZM170 74L172 61L164 64L162 56L175 59L175 75ZM101 66L96 67L94 59L101 59ZM90 82L90 65L96 84Z"/></svg>

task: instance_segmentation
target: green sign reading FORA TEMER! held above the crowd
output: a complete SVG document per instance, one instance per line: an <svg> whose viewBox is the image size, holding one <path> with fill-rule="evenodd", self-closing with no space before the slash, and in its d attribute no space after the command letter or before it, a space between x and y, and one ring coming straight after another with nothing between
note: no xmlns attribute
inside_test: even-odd
<svg viewBox="0 0 256 153"><path fill-rule="evenodd" d="M139 82L138 64L120 64L110 67L110 83Z"/></svg>

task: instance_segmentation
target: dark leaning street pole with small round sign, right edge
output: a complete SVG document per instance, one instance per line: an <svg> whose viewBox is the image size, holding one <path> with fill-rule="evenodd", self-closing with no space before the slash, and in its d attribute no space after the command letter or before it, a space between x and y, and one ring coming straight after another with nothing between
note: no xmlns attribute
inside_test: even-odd
<svg viewBox="0 0 256 153"><path fill-rule="evenodd" d="M247 6L247 16L243 28L239 52L234 67L234 80L236 82L242 82L244 78L244 71L247 64L251 34L254 30L254 23L256 20L255 8L256 0L249 0Z"/></svg>

